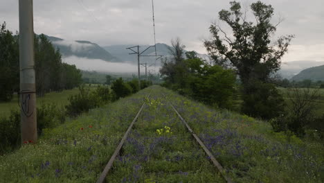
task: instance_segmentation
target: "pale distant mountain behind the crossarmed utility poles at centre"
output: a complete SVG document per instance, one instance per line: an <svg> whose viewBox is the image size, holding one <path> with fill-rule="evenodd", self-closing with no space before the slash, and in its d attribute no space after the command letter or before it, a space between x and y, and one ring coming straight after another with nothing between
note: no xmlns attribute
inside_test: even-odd
<svg viewBox="0 0 324 183"><path fill-rule="evenodd" d="M103 46L103 48L111 53L111 55L114 55L117 58L120 58L120 60L123 60L123 62L128 62L132 64L137 64L137 56L136 55L129 55L129 53L132 53L130 51L129 47L137 46L135 44L119 44L119 45L111 45L111 46ZM140 46L140 53L143 52L145 49L147 49L150 45L139 45ZM133 48L134 51L137 51L137 48ZM156 55L163 55L163 58L170 58L172 55L170 54L170 49L172 49L171 46L168 44L163 43L157 43L156 44ZM186 51L185 51L186 52ZM196 52L197 53L197 52ZM147 49L143 55L155 55L155 49L154 47L151 47L150 49ZM203 58L204 60L210 61L210 58L206 54L199 54L197 53L197 56L199 58ZM141 57L141 63L156 63L158 66L161 65L161 62L156 62L154 57Z"/></svg>

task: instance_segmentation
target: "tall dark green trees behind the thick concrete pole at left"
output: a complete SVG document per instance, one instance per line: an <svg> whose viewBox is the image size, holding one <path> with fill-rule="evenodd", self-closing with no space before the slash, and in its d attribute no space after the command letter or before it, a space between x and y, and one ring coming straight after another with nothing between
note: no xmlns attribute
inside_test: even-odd
<svg viewBox="0 0 324 183"><path fill-rule="evenodd" d="M80 70L63 63L60 50L45 35L35 34L34 39L37 95L80 85ZM6 22L0 30L0 83L0 101L10 101L14 92L19 92L19 34L7 30Z"/></svg>

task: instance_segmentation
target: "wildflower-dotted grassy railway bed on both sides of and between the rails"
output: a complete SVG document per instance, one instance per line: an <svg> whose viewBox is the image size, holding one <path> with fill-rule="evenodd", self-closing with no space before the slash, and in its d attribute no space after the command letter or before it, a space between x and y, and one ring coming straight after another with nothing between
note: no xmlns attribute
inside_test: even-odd
<svg viewBox="0 0 324 183"><path fill-rule="evenodd" d="M323 182L323 144L272 132L267 122L213 110L159 86L45 130L36 144L0 157L1 180L96 182L145 102L107 182L222 182L162 92L233 182Z"/></svg>

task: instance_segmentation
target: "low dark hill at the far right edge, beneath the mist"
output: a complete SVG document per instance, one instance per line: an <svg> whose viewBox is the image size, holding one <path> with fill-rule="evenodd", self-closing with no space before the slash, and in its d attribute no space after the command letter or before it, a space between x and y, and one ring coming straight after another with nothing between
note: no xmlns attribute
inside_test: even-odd
<svg viewBox="0 0 324 183"><path fill-rule="evenodd" d="M305 69L291 78L291 80L324 80L324 65Z"/></svg>

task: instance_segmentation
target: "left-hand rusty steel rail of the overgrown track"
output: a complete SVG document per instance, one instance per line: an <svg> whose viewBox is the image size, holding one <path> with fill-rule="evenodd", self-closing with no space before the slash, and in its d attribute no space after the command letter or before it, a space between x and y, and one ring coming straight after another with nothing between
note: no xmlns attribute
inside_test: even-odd
<svg viewBox="0 0 324 183"><path fill-rule="evenodd" d="M152 90L150 91L150 94L147 95L147 97L150 97L151 92L152 92ZM108 164L105 166L105 169L102 171L100 177L99 177L98 180L97 180L97 183L102 183L102 182L105 181L105 178L107 177L107 174L108 174L109 170L110 170L111 167L113 166L114 161L115 161L117 155L119 154L121 148L123 147L123 145L124 145L124 143L125 143L125 141L126 141L126 139L127 139L127 137L128 137L129 132L132 130L133 125L134 125L134 123L137 121L138 116L141 114L141 112L142 112L144 106L145 106L145 102L143 103L141 109L140 109L140 110L138 111L138 113L136 114L136 116L135 116L135 118L133 119L132 123L129 125L127 131L126 131L125 134L124 134L123 139L121 139L121 141L120 141L120 143L118 144L118 146L117 146L117 148L116 148L114 154L110 157L109 162L108 162Z"/></svg>

